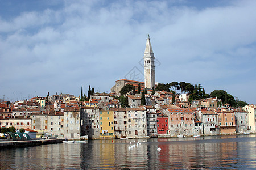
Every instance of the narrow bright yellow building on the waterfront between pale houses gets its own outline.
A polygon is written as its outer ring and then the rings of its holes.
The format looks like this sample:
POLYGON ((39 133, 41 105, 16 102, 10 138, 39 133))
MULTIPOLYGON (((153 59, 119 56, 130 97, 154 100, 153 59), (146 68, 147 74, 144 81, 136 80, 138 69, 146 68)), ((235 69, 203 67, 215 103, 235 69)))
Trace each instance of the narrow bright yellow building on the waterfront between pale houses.
POLYGON ((114 138, 114 111, 100 111, 100 138, 114 138))

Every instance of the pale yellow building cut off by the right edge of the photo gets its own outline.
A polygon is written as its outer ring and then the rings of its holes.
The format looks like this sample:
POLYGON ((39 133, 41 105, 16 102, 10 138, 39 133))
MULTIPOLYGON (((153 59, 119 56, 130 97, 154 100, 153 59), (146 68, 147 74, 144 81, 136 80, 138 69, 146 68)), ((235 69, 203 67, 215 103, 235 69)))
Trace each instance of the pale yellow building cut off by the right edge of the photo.
POLYGON ((248 112, 249 116, 249 129, 256 132, 256 105, 250 104, 243 107, 248 112))

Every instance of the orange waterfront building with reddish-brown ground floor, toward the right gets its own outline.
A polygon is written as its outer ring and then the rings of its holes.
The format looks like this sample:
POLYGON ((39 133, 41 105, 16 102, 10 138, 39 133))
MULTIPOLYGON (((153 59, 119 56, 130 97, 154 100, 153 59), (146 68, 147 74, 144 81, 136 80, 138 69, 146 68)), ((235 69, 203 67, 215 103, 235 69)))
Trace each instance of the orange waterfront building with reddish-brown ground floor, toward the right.
POLYGON ((236 117, 233 111, 223 111, 218 109, 218 118, 220 126, 220 134, 235 134, 236 133, 236 117))

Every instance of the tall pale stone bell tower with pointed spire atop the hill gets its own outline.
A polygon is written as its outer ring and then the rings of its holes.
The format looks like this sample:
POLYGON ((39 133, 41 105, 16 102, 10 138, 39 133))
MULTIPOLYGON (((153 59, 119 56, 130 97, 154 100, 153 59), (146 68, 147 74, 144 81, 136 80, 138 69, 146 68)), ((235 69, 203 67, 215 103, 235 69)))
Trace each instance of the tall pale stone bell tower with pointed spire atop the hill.
POLYGON ((146 49, 144 52, 144 77, 145 87, 148 89, 155 88, 155 57, 150 44, 150 37, 147 34, 146 49))

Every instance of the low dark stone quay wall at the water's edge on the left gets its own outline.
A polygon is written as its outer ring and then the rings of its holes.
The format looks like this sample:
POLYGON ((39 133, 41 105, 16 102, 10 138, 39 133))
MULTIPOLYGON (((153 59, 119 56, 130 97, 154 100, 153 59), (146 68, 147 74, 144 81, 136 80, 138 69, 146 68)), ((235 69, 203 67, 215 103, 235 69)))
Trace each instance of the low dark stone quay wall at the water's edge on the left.
POLYGON ((13 147, 27 147, 27 146, 39 146, 47 144, 63 143, 61 139, 45 139, 45 140, 30 140, 30 141, 1 141, 1 148, 13 148, 13 147))

